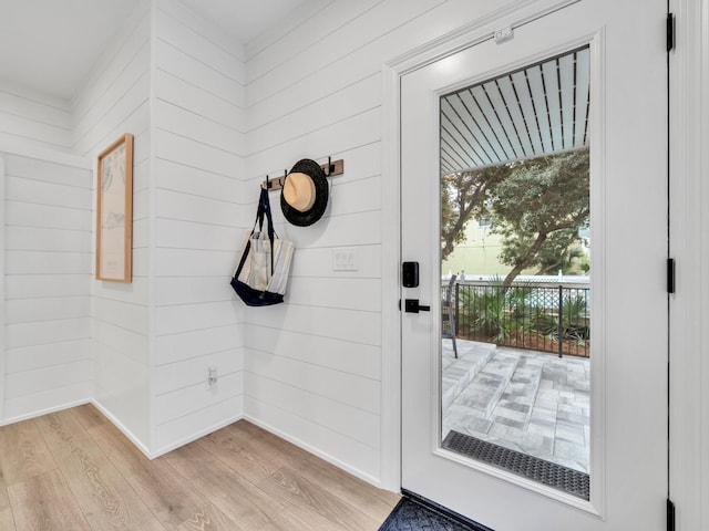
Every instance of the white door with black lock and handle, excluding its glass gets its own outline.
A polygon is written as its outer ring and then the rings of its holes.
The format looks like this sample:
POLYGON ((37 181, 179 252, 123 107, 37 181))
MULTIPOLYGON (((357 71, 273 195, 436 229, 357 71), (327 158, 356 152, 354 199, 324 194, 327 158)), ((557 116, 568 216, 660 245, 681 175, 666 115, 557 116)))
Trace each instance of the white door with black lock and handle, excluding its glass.
MULTIPOLYGON (((419 285, 402 288, 401 298, 430 306, 407 312, 402 302, 402 488, 495 531, 665 528, 665 19, 660 0, 582 0, 514 28, 512 39, 485 40, 401 77, 401 259, 420 267, 419 285), (590 87, 587 496, 452 451, 442 445, 441 427, 442 97, 577 50, 587 54, 585 84, 590 87)), ((500 28, 514 23, 511 17, 500 28)), ((573 71, 583 90, 583 72, 573 71)), ((559 85, 563 75, 559 70, 559 85)), ((569 110, 551 82, 547 77, 547 97, 556 97, 558 105, 536 111, 554 128, 552 113, 582 110, 569 110)), ((487 97, 487 112, 502 113, 494 95, 487 97)), ((517 91, 516 97, 525 96, 517 91)))

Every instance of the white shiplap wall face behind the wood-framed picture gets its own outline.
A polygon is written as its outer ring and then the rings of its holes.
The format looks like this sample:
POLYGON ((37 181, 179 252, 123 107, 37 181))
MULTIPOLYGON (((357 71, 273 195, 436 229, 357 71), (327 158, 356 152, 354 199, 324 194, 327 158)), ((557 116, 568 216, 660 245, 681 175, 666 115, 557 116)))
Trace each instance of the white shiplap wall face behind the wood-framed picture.
MULTIPOLYGON (((91 281, 96 404, 150 451, 150 209, 152 7, 136 7, 73 98, 74 153, 96 155, 132 133, 133 281, 91 281)), ((95 171, 95 169, 94 169, 95 171)), ((95 249, 95 178, 91 249, 95 249)), ((92 272, 95 264, 91 263, 92 272)))

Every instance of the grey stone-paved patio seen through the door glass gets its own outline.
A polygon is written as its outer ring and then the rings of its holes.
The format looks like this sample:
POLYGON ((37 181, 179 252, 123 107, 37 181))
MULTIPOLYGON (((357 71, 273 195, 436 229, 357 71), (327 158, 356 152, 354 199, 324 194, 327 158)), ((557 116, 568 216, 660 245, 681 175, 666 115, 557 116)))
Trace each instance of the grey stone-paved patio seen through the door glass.
POLYGON ((588 473, 589 360, 443 340, 443 438, 450 430, 588 473))

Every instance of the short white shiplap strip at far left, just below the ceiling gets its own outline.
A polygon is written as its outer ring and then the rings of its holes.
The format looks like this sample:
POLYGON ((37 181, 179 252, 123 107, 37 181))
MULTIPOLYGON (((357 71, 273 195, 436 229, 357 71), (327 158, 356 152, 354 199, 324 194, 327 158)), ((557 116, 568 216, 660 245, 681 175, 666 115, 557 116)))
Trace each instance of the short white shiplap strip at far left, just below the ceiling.
POLYGON ((70 103, 0 82, 0 143, 69 152, 70 103))

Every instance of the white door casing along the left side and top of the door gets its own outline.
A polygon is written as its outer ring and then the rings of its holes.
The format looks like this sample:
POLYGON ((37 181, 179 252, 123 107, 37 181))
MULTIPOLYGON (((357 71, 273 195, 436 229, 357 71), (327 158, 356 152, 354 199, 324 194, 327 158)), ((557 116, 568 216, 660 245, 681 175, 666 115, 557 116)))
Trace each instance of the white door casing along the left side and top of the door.
POLYGON ((401 79, 439 59, 491 40, 580 0, 520 0, 387 61, 382 67, 382 415, 381 487, 401 489, 401 79))

